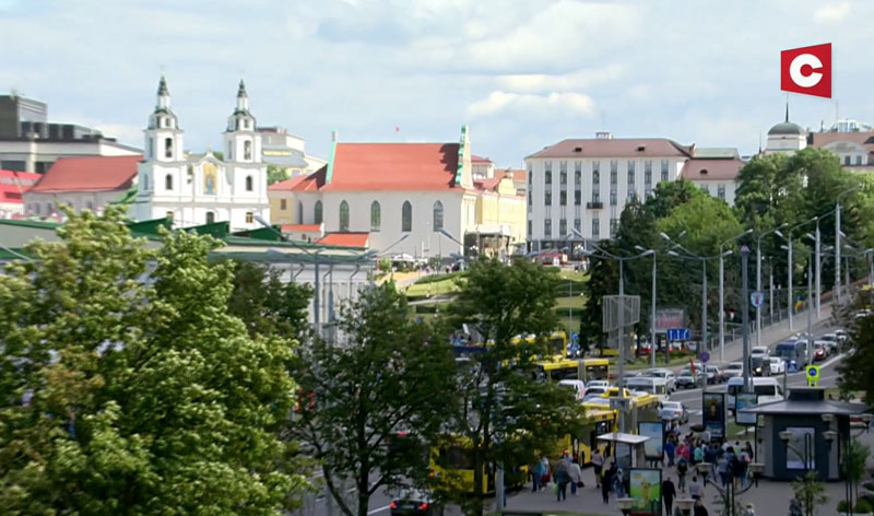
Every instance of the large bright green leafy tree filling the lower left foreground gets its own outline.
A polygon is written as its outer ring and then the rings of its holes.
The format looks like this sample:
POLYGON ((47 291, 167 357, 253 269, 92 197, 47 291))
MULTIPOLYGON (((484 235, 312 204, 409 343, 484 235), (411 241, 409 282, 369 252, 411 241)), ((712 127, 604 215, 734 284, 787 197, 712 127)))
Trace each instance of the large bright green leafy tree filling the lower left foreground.
POLYGON ((68 211, 60 242, 0 275, 0 504, 10 514, 245 514, 305 485, 277 438, 294 342, 249 338, 226 310, 210 237, 149 250, 68 211))

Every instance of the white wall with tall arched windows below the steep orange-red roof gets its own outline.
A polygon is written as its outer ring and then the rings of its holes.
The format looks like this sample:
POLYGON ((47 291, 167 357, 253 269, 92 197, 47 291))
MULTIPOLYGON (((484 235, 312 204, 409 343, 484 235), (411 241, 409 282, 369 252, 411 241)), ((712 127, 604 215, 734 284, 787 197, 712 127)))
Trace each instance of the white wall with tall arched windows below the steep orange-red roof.
POLYGON ((464 190, 446 191, 321 191, 295 192, 303 207, 300 224, 315 224, 315 206, 322 202, 322 221, 326 233, 340 231, 340 203, 345 200, 350 208, 350 232, 370 234, 370 248, 381 251, 398 242, 404 233, 403 242, 388 249, 389 254, 408 254, 414 257, 448 256, 462 254, 461 246, 433 227, 434 206, 440 201, 444 207, 444 230, 463 242, 464 234, 473 231, 476 220, 476 196, 464 190), (370 206, 380 206, 378 231, 370 226, 370 206), (403 232, 402 208, 410 201, 413 210, 412 231, 403 232))

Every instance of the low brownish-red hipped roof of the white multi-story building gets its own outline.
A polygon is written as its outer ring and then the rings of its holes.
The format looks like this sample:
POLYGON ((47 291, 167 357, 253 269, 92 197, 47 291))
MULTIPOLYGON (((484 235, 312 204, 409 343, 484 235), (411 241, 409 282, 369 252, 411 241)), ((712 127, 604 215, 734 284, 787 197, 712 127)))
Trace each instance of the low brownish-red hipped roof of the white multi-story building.
POLYGON ((614 138, 563 140, 528 157, 682 157, 689 151, 665 138, 614 138))

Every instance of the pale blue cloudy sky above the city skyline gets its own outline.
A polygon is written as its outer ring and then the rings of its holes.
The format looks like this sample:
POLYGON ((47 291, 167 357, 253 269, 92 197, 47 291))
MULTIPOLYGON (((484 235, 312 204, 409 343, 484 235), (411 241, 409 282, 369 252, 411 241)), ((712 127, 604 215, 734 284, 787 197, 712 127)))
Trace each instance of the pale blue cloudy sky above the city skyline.
POLYGON ((142 146, 163 73, 188 150, 221 149, 246 81, 260 126, 458 141, 498 166, 566 138, 755 152, 782 121, 874 122, 871 1, 0 0, 0 94, 142 146), (780 50, 832 43, 835 99, 780 92, 780 50), (395 130, 400 129, 400 130, 395 130))

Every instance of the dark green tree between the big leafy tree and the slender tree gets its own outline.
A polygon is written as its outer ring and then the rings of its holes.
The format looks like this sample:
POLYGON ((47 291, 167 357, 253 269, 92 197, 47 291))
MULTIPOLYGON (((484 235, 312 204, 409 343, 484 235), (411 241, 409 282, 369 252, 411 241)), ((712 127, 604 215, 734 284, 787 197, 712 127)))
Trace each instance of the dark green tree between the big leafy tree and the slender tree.
POLYGON ((295 368, 303 397, 288 434, 322 468, 346 516, 366 516, 370 496, 403 480, 427 480, 428 452, 392 446, 400 433, 432 442, 452 412, 451 350, 439 327, 411 320, 393 282, 369 288, 341 312, 339 341, 315 339, 295 368), (356 503, 344 496, 352 480, 356 503))

